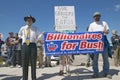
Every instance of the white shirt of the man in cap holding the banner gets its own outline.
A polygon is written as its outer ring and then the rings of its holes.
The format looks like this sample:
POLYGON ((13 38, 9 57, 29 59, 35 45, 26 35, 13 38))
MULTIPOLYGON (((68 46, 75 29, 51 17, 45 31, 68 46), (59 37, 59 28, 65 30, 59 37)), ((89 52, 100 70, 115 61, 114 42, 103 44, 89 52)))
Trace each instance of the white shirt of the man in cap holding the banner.
POLYGON ((95 32, 95 31, 104 31, 109 30, 108 24, 105 21, 98 21, 98 22, 92 22, 89 26, 88 31, 89 32, 95 32))

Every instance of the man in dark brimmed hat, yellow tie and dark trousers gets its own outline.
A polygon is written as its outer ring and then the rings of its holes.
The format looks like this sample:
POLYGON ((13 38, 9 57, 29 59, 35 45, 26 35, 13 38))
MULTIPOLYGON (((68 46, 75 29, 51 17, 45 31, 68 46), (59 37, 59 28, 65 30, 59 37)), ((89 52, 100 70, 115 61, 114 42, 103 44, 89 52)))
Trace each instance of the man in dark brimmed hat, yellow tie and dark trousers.
POLYGON ((28 66, 31 63, 31 77, 36 80, 36 59, 37 59, 37 46, 36 42, 39 36, 39 30, 32 24, 35 23, 35 18, 32 16, 24 17, 26 22, 19 31, 19 37, 22 39, 22 67, 23 67, 23 80, 28 80, 28 66))

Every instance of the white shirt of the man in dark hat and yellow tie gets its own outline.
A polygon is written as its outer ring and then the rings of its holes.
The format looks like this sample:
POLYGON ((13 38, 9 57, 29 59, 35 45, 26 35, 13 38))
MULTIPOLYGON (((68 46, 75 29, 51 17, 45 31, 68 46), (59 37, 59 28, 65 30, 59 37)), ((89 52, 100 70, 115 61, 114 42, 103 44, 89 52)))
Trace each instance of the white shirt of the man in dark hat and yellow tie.
MULTIPOLYGON (((25 43, 25 41, 26 41, 27 28, 28 28, 28 25, 21 27, 21 29, 18 33, 19 37, 22 38, 23 43, 25 43)), ((40 34, 40 32, 39 32, 38 28, 31 26, 30 27, 30 42, 36 43, 39 34, 40 34)))

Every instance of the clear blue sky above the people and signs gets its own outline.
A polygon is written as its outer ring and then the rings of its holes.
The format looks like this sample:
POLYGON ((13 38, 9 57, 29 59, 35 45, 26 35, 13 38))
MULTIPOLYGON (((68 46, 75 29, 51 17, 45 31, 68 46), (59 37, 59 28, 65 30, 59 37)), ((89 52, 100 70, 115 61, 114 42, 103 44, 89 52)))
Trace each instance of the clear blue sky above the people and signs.
POLYGON ((0 33, 3 40, 9 32, 18 32, 25 25, 24 17, 32 15, 36 18, 33 24, 40 32, 54 32, 54 6, 75 6, 77 32, 85 32, 93 22, 93 13, 99 11, 101 20, 108 23, 120 34, 120 0, 0 0, 0 33))

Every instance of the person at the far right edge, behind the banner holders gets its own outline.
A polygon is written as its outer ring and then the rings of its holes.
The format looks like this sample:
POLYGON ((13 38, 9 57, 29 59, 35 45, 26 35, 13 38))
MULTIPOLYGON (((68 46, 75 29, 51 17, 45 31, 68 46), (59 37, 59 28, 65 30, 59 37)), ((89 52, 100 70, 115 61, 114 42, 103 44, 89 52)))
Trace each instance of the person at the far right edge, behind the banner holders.
POLYGON ((114 64, 120 66, 120 36, 118 36, 116 30, 112 30, 111 42, 113 45, 114 64))

